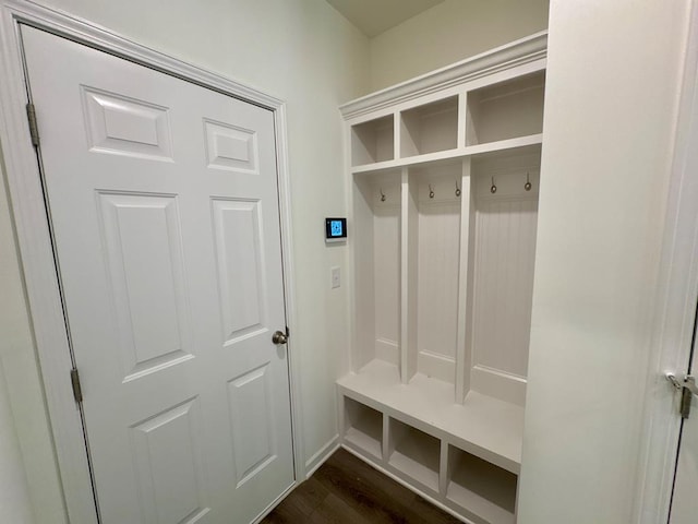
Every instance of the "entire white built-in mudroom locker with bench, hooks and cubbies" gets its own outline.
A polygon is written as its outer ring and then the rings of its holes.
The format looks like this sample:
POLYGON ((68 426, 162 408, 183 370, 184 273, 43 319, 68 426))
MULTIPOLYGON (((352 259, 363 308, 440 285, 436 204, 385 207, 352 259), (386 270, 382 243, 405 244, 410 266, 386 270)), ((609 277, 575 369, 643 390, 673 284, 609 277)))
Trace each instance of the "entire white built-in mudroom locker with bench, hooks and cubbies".
POLYGON ((473 524, 516 522, 545 40, 341 107, 353 231, 341 443, 473 524))

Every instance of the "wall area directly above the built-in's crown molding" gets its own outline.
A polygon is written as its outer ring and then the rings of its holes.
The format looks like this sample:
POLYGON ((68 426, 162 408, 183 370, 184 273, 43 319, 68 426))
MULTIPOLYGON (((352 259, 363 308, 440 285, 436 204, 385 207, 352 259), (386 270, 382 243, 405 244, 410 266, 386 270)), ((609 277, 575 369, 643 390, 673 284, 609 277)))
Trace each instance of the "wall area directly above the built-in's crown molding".
POLYGON ((371 90, 547 27, 549 0, 446 0, 371 39, 371 90))

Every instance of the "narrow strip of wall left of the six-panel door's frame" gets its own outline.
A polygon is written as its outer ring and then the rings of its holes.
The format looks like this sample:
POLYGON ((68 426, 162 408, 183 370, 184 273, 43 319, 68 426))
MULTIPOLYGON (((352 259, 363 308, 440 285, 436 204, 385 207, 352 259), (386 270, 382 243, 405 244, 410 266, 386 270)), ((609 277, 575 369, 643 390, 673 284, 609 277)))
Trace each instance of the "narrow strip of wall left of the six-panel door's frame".
MULTIPOLYGON (((0 492, 7 496, 2 497, 0 514, 5 514, 7 505, 12 501, 28 503, 27 495, 23 495, 28 485, 36 522, 63 522, 62 491, 4 180, 0 180, 0 492), (17 469, 22 466, 24 471, 17 469)), ((28 513, 25 519, 8 522, 31 522, 28 513)))

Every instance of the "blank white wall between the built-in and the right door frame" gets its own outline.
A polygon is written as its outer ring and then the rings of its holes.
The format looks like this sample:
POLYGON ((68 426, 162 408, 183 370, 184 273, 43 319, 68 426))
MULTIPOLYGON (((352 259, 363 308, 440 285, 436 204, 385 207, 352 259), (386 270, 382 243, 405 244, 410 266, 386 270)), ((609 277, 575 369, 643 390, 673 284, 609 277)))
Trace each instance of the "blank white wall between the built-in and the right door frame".
POLYGON ((520 524, 631 522, 689 3, 551 2, 520 524))

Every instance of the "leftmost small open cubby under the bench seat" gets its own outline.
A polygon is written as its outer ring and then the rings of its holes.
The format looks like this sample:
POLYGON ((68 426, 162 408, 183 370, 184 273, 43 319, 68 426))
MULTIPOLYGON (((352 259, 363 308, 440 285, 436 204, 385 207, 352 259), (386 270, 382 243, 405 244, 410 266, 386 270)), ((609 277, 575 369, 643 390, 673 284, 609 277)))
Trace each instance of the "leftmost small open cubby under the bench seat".
POLYGON ((382 460, 383 414, 348 396, 344 397, 344 407, 345 442, 359 452, 382 460))

